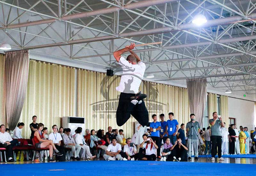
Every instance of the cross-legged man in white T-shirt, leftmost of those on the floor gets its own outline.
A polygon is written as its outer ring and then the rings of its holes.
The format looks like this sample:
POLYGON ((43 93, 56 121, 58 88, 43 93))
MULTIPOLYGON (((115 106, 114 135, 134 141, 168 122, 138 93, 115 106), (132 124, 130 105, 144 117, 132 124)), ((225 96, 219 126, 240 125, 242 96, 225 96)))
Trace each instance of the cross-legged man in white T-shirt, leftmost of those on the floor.
POLYGON ((121 144, 116 142, 116 138, 113 138, 112 143, 108 145, 107 153, 103 155, 103 158, 107 161, 111 160, 123 160, 122 156, 119 154, 122 151, 121 144))

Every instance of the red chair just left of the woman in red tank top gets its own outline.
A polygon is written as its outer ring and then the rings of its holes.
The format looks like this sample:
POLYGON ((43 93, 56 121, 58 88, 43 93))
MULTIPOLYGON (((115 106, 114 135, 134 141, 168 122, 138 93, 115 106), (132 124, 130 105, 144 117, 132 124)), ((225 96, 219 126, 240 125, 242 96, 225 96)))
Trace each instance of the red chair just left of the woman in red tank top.
POLYGON ((25 151, 26 152, 26 158, 27 158, 27 161, 29 160, 28 159, 28 152, 29 150, 34 150, 34 146, 29 146, 29 142, 30 142, 30 139, 17 139, 18 142, 20 143, 19 146, 14 146, 12 148, 13 150, 13 157, 14 157, 14 161, 16 161, 16 153, 18 153, 18 151, 20 151, 20 155, 19 155, 19 161, 20 161, 20 156, 21 156, 21 152, 22 151, 25 151))

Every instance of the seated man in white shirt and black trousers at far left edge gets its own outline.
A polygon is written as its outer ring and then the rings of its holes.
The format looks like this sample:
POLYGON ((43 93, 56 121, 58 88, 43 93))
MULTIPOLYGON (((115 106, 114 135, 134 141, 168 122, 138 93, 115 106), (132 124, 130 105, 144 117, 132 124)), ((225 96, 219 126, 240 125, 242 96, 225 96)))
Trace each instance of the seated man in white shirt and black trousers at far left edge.
POLYGON ((12 140, 9 132, 5 132, 5 126, 0 125, 0 148, 6 148, 8 162, 13 162, 12 148, 16 146, 18 140, 12 140))

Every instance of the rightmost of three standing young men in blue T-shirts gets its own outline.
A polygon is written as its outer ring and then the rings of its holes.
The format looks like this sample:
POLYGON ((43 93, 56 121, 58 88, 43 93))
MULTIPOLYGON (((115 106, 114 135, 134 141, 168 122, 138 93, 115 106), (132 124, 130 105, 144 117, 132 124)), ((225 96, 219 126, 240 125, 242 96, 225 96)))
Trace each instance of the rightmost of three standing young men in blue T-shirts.
POLYGON ((172 145, 174 145, 177 139, 176 134, 178 133, 179 123, 177 120, 173 119, 174 114, 172 112, 170 112, 168 115, 170 120, 167 120, 167 125, 165 128, 168 138, 170 138, 172 145))

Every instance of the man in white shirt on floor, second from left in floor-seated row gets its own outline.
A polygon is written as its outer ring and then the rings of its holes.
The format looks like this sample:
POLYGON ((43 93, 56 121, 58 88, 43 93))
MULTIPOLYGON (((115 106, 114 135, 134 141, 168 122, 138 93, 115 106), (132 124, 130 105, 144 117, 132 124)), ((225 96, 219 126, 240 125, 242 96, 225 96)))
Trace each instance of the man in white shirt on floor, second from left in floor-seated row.
MULTIPOLYGON (((119 130, 119 133, 120 133, 120 130, 119 130)), ((127 160, 134 161, 138 159, 139 153, 137 153, 136 146, 133 143, 131 143, 131 141, 132 141, 131 138, 127 138, 126 140, 127 144, 124 146, 124 152, 120 152, 124 161, 127 161, 127 160)))

